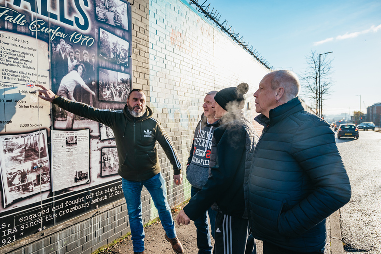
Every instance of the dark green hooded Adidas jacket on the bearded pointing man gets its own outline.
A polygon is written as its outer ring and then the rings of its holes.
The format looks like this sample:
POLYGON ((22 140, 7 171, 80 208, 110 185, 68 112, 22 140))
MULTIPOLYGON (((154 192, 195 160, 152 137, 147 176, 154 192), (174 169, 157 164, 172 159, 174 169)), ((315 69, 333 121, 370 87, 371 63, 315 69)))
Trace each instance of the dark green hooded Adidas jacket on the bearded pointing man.
POLYGON ((118 174, 124 179, 144 181, 160 172, 156 141, 170 160, 174 174, 181 174, 177 152, 160 122, 152 117, 148 106, 142 117, 135 118, 128 112, 127 105, 123 110, 97 109, 61 96, 56 96, 52 103, 113 130, 119 158, 118 174))

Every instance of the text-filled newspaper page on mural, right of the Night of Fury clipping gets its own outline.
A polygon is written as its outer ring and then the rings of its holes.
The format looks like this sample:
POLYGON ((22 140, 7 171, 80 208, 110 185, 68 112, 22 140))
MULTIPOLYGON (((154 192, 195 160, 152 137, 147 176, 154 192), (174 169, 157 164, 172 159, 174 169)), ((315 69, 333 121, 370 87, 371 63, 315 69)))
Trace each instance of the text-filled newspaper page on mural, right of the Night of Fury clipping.
POLYGON ((52 130, 53 191, 90 183, 89 130, 52 130))

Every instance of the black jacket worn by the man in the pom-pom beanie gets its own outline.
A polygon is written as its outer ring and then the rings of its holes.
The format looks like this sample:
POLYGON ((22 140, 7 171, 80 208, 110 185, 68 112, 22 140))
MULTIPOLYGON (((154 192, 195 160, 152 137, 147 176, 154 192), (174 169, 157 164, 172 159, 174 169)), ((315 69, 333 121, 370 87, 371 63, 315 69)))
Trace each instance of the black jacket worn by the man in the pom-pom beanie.
POLYGON ((223 214, 247 218, 244 179, 248 179, 257 140, 254 128, 242 112, 227 113, 220 119, 212 138, 211 176, 184 207, 191 220, 214 202, 223 214))

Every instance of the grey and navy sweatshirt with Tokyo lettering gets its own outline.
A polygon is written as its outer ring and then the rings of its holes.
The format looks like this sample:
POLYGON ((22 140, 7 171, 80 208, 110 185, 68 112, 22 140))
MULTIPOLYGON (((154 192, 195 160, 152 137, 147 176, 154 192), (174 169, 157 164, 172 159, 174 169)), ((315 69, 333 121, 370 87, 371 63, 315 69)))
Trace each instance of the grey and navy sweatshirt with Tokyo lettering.
POLYGON ((209 160, 212 149, 213 132, 219 126, 219 121, 208 123, 202 113, 194 131, 191 152, 187 162, 187 180, 192 186, 202 189, 209 177, 209 160))

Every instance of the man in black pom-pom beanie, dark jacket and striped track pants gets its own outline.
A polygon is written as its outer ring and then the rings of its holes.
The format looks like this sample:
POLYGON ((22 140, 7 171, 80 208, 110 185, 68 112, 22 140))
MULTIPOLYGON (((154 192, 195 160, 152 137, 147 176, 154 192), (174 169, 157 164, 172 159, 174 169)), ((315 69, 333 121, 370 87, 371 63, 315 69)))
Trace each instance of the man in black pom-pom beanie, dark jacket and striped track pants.
POLYGON ((176 218, 179 225, 188 225, 216 202, 216 254, 256 253, 254 241, 247 246, 250 227, 245 193, 248 186, 244 185, 258 141, 258 135, 242 112, 248 89, 248 84, 241 83, 238 87, 222 89, 214 96, 214 117, 220 119, 220 126, 212 138, 210 176, 176 218))

